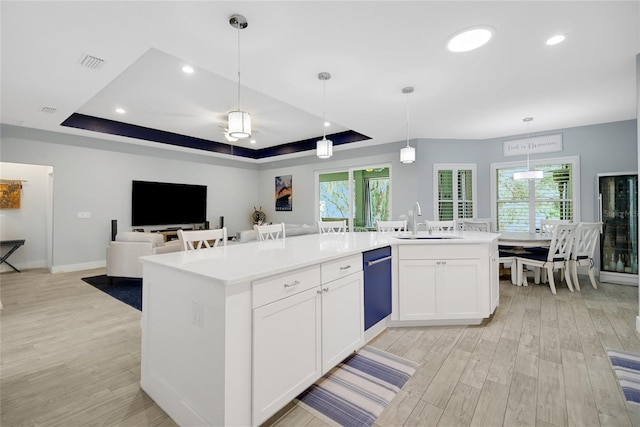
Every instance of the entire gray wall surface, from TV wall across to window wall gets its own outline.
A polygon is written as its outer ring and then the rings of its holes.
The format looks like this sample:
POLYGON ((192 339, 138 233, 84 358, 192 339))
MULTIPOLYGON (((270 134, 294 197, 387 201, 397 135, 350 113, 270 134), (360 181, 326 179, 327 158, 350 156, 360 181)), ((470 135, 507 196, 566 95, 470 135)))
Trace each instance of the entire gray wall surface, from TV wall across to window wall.
MULTIPOLYGON (((562 129, 561 153, 536 155, 561 157, 579 155, 581 161, 582 220, 596 218, 595 176, 599 172, 635 171, 638 168, 637 124, 635 120, 562 129)), ((543 133, 532 132, 531 136, 543 133)), ((393 180, 392 215, 407 213, 419 201, 425 218, 433 212, 433 164, 476 163, 478 171, 478 217, 491 212, 490 164, 513 161, 502 156, 502 141, 525 135, 490 140, 411 141, 417 160, 399 162, 405 142, 334 151, 329 160, 313 155, 248 164, 194 153, 155 149, 105 141, 97 138, 2 126, 0 161, 52 166, 53 270, 76 270, 104 265, 110 236, 110 220, 119 229, 130 229, 131 180, 157 180, 209 186, 209 220, 218 225, 225 217, 230 233, 251 227, 253 207, 262 206, 269 221, 311 224, 315 220, 316 171, 391 165, 393 180), (274 178, 293 176, 293 211, 275 212, 274 178), (90 219, 78 219, 77 212, 91 212, 90 219)), ((524 161, 524 159, 523 159, 524 161)), ((158 208, 170 201, 158 201, 158 208)), ((46 239, 43 236, 43 245, 46 239)))

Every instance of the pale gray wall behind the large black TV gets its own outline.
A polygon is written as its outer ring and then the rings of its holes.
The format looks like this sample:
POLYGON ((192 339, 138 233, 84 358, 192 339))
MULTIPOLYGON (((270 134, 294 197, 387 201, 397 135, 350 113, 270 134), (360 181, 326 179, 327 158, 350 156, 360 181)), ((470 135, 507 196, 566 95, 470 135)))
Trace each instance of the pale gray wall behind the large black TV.
MULTIPOLYGON (((1 148, 2 161, 46 164, 55 170, 54 272, 105 265, 111 220, 118 220, 119 231, 131 229, 132 180, 207 185, 208 219, 217 226, 224 216, 230 233, 251 227, 249 215, 259 200, 257 170, 212 164, 218 160, 203 163, 167 150, 158 150, 164 157, 157 157, 149 148, 137 154, 140 147, 11 126, 3 126, 1 148), (90 212, 91 218, 79 219, 78 212, 90 212)), ((166 203, 171 201, 158 200, 157 208, 166 203)))

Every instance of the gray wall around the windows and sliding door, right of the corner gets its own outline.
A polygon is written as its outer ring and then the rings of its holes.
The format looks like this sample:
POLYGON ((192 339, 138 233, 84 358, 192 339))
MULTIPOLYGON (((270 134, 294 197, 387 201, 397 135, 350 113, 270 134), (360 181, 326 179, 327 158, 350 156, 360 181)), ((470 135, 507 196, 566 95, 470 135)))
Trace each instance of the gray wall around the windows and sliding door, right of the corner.
MULTIPOLYGON (((637 130, 636 120, 604 123, 561 129, 552 132, 531 132, 530 136, 562 133, 563 151, 535 155, 535 159, 548 157, 580 156, 580 209, 583 221, 597 219, 596 174, 603 172, 636 171, 637 130)), ((491 216, 491 163, 525 161, 525 158, 505 158, 502 143, 505 140, 523 138, 509 135, 488 140, 419 139, 411 141, 416 147, 416 162, 403 165, 399 162, 404 142, 334 152, 329 160, 304 157, 272 162, 262 166, 260 172, 260 200, 269 220, 274 222, 310 223, 314 220, 314 174, 317 170, 346 168, 373 163, 392 164, 392 214, 394 218, 407 213, 416 201, 422 206, 423 217, 433 218, 433 165, 435 163, 477 164, 477 217, 491 216), (305 164, 302 164, 306 162, 305 164), (274 212, 273 181, 277 175, 293 175, 293 212, 274 212), (304 194, 300 194, 304 193, 304 194)), ((534 156, 532 156, 534 158, 534 156)))

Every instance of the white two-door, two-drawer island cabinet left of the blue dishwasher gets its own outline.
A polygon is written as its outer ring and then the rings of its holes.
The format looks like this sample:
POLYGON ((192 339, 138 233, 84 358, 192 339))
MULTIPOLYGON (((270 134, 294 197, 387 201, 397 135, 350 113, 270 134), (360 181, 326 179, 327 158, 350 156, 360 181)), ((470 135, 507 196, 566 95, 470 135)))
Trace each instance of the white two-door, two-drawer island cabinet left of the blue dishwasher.
POLYGON ((362 346, 362 256, 256 281, 253 301, 258 425, 362 346))

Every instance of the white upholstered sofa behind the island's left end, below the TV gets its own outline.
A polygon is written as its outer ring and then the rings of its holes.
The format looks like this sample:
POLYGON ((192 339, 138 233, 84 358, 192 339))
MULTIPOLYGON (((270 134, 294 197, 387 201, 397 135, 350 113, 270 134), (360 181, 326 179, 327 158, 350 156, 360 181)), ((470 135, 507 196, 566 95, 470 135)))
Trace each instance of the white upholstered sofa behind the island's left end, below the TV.
POLYGON ((120 232, 107 246, 107 276, 142 278, 141 256, 178 252, 182 248, 180 240, 165 243, 161 233, 120 232))

